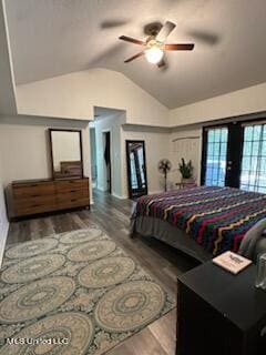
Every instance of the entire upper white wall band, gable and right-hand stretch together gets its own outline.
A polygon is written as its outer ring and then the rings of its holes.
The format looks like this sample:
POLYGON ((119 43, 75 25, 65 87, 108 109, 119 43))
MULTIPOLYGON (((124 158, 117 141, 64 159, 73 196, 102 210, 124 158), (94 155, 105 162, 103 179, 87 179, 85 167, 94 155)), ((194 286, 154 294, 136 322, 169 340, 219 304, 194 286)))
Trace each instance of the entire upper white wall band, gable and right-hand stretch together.
POLYGON ((92 119, 93 106, 126 111, 126 123, 181 126, 266 110, 266 83, 168 110, 123 74, 90 69, 17 87, 22 114, 92 119))

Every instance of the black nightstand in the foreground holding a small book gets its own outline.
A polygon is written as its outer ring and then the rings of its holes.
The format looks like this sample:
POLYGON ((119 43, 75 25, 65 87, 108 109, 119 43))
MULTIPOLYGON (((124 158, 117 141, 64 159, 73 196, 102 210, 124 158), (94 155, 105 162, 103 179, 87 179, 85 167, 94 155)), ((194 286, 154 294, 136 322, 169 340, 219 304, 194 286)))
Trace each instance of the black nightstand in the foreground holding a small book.
POLYGON ((266 292, 256 267, 233 275, 207 262, 178 277, 177 355, 265 355, 266 292))

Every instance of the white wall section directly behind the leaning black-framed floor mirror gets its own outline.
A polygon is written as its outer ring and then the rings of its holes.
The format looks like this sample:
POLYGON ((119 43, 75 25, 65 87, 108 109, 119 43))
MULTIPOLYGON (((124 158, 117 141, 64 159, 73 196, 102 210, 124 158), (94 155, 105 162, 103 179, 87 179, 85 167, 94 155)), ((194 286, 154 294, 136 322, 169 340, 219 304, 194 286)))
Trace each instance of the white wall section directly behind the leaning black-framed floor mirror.
POLYGON ((127 174, 126 174, 126 140, 143 140, 145 141, 146 152, 146 174, 149 193, 156 193, 163 191, 163 176, 157 171, 157 163, 163 158, 170 156, 170 134, 160 130, 144 130, 143 128, 123 126, 122 131, 122 181, 123 181, 123 196, 127 197, 127 174))

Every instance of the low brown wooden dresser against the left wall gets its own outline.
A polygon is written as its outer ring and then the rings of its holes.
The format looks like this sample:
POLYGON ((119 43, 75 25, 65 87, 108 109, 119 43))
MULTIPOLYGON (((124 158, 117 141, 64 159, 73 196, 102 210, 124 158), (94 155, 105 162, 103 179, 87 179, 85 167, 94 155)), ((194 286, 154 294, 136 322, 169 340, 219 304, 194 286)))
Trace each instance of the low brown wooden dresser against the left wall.
POLYGON ((89 178, 12 182, 7 191, 9 219, 90 207, 89 178))

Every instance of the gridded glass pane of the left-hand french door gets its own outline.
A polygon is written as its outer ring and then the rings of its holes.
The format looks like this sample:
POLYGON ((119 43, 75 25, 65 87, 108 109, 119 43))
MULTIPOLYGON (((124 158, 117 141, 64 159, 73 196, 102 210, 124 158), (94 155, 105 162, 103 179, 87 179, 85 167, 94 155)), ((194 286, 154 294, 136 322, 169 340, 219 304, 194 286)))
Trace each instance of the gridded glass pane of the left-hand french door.
POLYGON ((205 185, 224 186, 227 165, 228 129, 207 130, 205 185))

